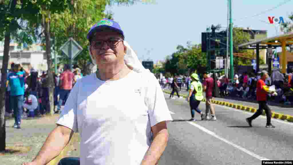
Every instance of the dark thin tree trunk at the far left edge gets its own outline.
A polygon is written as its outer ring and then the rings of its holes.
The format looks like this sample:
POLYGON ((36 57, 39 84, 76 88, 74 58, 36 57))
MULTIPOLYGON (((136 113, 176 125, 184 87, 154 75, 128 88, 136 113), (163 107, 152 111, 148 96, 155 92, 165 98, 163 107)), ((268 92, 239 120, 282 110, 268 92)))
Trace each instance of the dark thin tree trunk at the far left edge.
POLYGON ((5 121, 5 91, 6 91, 6 77, 7 77, 7 66, 8 66, 8 54, 9 54, 9 43, 10 43, 10 31, 7 30, 5 33, 4 41, 4 55, 2 61, 2 76, 1 76, 1 89, 0 89, 0 151, 4 151, 6 147, 6 121, 5 121))

